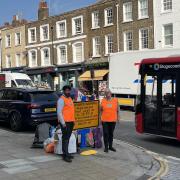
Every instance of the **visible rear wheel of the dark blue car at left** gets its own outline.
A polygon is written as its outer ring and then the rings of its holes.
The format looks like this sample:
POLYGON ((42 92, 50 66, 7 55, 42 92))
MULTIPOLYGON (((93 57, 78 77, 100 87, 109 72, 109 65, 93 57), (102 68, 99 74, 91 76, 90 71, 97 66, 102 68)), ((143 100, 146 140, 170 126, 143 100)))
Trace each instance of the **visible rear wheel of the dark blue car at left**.
POLYGON ((13 112, 10 117, 10 126, 13 131, 20 131, 22 128, 21 114, 18 112, 13 112))

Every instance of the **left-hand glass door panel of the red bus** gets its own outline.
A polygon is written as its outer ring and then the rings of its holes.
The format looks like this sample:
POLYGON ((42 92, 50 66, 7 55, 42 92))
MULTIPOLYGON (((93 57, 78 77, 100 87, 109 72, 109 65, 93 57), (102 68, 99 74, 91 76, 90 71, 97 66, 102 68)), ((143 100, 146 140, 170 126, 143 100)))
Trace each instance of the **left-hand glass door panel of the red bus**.
POLYGON ((144 76, 144 95, 143 102, 143 117, 144 117, 144 130, 147 133, 157 133, 158 129, 158 76, 156 74, 146 74, 144 76))

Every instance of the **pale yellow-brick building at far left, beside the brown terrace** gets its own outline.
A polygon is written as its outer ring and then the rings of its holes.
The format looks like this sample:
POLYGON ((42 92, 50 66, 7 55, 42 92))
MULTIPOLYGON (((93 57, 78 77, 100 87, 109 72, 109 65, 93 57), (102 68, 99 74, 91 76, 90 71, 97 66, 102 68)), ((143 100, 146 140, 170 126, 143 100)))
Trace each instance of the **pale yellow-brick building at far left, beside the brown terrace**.
POLYGON ((20 71, 23 67, 27 66, 25 24, 26 20, 20 20, 15 15, 13 16, 12 23, 5 23, 1 29, 2 71, 20 71))

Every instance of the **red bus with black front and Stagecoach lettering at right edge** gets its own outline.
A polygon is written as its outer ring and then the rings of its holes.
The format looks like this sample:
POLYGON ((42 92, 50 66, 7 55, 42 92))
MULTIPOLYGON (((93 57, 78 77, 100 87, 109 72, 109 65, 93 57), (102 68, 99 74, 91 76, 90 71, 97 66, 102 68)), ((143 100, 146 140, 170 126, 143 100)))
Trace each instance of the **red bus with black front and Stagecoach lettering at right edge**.
POLYGON ((180 140, 180 57, 144 59, 139 74, 136 131, 180 140))

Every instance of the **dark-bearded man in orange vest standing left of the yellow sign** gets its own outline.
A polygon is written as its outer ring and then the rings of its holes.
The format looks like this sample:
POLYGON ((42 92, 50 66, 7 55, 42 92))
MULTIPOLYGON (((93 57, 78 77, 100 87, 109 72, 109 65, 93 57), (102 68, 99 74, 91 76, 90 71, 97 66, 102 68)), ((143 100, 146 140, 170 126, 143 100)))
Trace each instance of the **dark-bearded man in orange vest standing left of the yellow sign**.
POLYGON ((73 156, 68 152, 69 140, 74 128, 74 103, 71 98, 71 87, 63 87, 63 95, 57 102, 58 124, 62 130, 62 151, 63 160, 72 162, 73 156))

